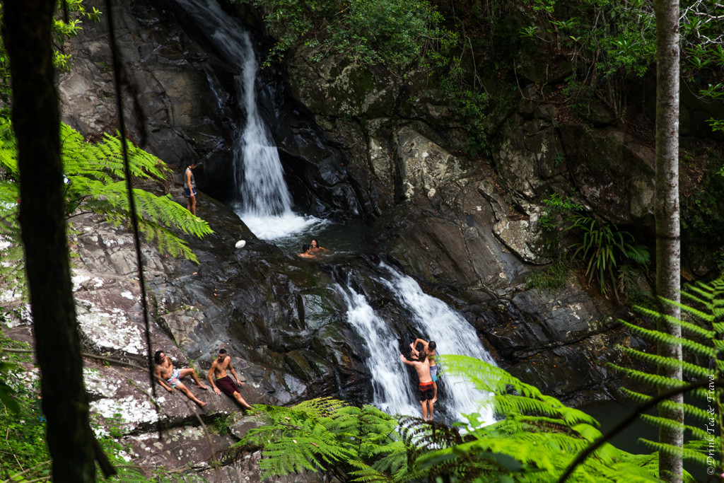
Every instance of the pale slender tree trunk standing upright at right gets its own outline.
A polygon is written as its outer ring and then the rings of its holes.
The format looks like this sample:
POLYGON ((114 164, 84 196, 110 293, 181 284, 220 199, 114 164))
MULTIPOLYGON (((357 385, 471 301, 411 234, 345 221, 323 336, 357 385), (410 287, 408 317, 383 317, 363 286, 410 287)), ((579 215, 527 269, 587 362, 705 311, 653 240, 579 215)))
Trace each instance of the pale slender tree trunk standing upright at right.
MULTIPOLYGON (((681 248, 678 203, 678 116, 679 116, 679 2, 654 0, 656 12, 656 293, 671 301, 680 301, 681 248)), ((660 303, 662 314, 678 319, 681 310, 660 303)), ((658 322, 657 328, 681 337, 681 327, 658 322)), ((658 345, 658 354, 681 361, 681 344, 658 345)), ((681 380, 681 368, 659 368, 659 374, 681 380)), ((683 403, 683 395, 672 398, 683 403)), ((659 415, 683 424, 683 408, 659 409, 659 415)), ((683 427, 659 429, 659 442, 681 448, 683 427)), ((667 482, 681 482, 681 450, 659 455, 659 475, 667 482)))

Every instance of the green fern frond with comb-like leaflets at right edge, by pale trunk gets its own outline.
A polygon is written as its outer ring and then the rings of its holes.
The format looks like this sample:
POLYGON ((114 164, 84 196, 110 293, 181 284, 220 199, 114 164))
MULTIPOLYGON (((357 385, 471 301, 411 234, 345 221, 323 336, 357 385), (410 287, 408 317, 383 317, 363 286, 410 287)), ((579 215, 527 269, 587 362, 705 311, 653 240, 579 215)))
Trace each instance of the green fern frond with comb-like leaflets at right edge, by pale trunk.
MULTIPOLYGON (((724 337, 724 278, 720 277, 709 283, 697 282, 690 285, 681 292, 681 298, 686 303, 676 303, 665 299, 660 299, 660 301, 681 308, 681 319, 665 316, 665 320, 669 324, 680 326, 682 337, 674 337, 657 329, 647 329, 629 322, 623 322, 623 324, 652 343, 681 343, 684 353, 683 361, 633 348, 623 347, 621 349, 647 366, 681 367, 684 381, 709 382, 706 388, 693 392, 701 403, 681 405, 685 415, 683 428, 689 434, 689 442, 683 450, 683 458, 700 466, 712 469, 717 467, 717 474, 719 474, 722 467, 720 451, 724 448, 722 438, 724 388, 715 387, 714 380, 721 379, 724 374, 724 361, 720 358, 723 346, 721 341, 724 337), (713 458, 714 461, 707 461, 708 457, 713 458)), ((647 319, 662 318, 659 311, 651 308, 637 307, 636 311, 647 319)), ((668 390, 686 384, 677 379, 670 379, 640 369, 613 364, 611 366, 654 389, 668 390)), ((641 403, 652 399, 647 394, 633 390, 626 390, 626 393, 633 400, 641 403)), ((671 407, 676 403, 667 400, 661 404, 671 407)), ((657 427, 672 427, 678 424, 659 416, 642 416, 642 419, 657 427)), ((650 448, 658 451, 675 450, 658 442, 644 441, 650 448)))

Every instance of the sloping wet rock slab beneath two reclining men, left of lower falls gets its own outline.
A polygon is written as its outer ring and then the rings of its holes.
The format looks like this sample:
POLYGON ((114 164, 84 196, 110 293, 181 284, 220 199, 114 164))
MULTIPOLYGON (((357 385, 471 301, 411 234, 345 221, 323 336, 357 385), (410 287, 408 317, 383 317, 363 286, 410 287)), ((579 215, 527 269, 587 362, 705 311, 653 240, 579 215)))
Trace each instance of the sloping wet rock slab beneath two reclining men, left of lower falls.
MULTIPOLYGON (((256 240, 225 206, 199 198, 198 214, 215 230, 203 240, 188 240, 200 264, 172 259, 143 244, 151 352, 163 350, 175 367, 194 368, 209 386, 211 361, 220 347, 227 348, 243 382, 240 393, 250 404, 339 395, 340 382, 350 398, 364 399, 369 374, 350 347, 356 336, 342 324, 344 306, 333 290, 317 288, 329 285, 329 275, 256 240), (236 249, 240 239, 247 243, 236 249)), ((177 201, 183 200, 178 196, 177 201)), ((101 358, 88 356, 85 364, 91 410, 99 420, 108 419, 106 424, 119 424, 132 442, 136 463, 167 469, 208 464, 211 450, 196 415, 209 422, 240 411, 240 406, 210 387, 196 387, 192 377, 182 382, 206 406, 160 385, 153 388, 159 408, 153 405, 144 369, 146 321, 132 238, 95 215, 75 217, 74 222, 80 337, 83 350, 101 358), (102 364, 102 358, 112 361, 102 364), (114 423, 110 420, 116 414, 114 423), (162 442, 154 441, 159 421, 167 431, 162 442)), ((7 303, 11 307, 20 301, 7 303)), ((26 314, 14 316, 2 329, 9 337, 28 340, 32 325, 26 314)), ((225 436, 211 440, 214 451, 232 442, 225 436)))

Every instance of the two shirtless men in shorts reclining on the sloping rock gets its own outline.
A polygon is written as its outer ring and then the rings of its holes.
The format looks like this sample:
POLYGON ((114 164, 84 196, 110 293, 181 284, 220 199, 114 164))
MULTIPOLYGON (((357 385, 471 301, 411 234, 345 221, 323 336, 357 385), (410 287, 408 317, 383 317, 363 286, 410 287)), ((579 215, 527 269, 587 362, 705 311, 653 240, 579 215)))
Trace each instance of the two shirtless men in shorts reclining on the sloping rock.
MULTIPOLYGON (((163 350, 156 350, 153 359, 156 361, 156 379, 161 386, 168 392, 173 392, 174 389, 180 390, 186 397, 198 404, 198 406, 206 406, 206 402, 193 395, 193 392, 181 382, 181 379, 190 376, 196 383, 196 387, 203 390, 209 389, 206 385, 201 384, 201 380, 198 379, 198 375, 194 369, 190 367, 183 369, 174 367, 171 359, 163 350)), ((251 409, 251 406, 241 397, 237 385, 243 386, 244 383, 237 377, 234 366, 231 364, 231 356, 229 356, 226 349, 219 349, 219 355, 214 359, 214 362, 211 363, 211 369, 209 369, 209 373, 206 374, 206 378, 211 382, 211 387, 216 394, 221 395, 221 393, 224 392, 224 394, 234 398, 243 408, 251 409), (236 382, 227 374, 227 371, 234 376, 236 382)))

